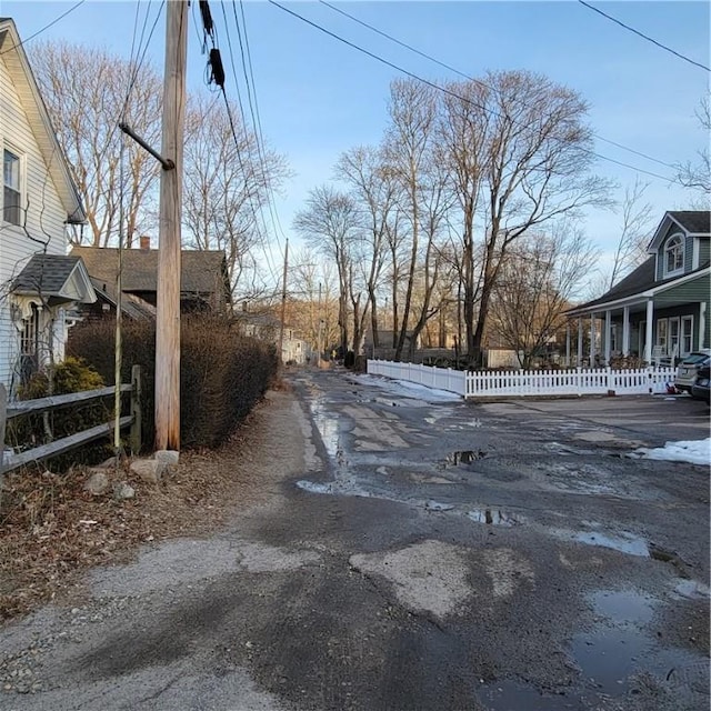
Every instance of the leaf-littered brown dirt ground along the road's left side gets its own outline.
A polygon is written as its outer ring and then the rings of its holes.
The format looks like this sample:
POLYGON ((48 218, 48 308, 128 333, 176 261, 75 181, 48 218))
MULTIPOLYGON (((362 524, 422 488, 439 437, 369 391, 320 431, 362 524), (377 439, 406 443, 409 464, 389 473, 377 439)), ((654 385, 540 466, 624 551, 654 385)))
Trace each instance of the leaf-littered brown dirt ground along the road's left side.
POLYGON ((264 497, 263 458, 257 458, 268 427, 270 393, 234 435, 214 451, 183 452, 158 484, 133 474, 127 461, 106 469, 110 482, 136 491, 117 500, 84 490, 86 467, 64 474, 43 467, 6 477, 0 491, 0 621, 51 600, 81 594, 81 571, 129 561, 149 541, 200 537, 219 528, 236 509, 264 497))

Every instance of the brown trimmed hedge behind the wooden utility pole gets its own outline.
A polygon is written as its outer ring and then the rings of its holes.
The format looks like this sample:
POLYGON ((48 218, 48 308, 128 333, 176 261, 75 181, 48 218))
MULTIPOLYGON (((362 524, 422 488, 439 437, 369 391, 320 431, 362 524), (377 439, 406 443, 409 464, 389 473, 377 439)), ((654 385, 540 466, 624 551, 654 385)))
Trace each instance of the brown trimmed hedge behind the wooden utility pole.
MULTIPOLYGON (((124 321, 121 381, 141 367, 142 445, 153 447, 156 323, 124 321)), ((116 323, 84 321, 69 332, 67 353, 83 358, 113 383, 116 323)), ((224 442, 263 397, 277 374, 273 346, 238 333, 237 322, 211 314, 181 317, 181 448, 224 442)))

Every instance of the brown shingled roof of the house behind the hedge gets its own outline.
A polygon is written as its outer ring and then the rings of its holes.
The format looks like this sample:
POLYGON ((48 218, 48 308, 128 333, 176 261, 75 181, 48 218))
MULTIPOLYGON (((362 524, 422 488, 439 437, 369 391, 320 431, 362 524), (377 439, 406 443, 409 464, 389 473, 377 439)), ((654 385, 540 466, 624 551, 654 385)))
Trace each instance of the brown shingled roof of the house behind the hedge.
MULTIPOLYGON (((87 271, 100 284, 116 284, 119 273, 119 250, 111 247, 73 247, 71 254, 81 257, 87 271)), ((123 291, 158 290, 157 249, 124 249, 121 253, 123 291)), ((227 263, 222 250, 182 250, 180 253, 180 291, 182 293, 218 294, 226 289, 227 263)))

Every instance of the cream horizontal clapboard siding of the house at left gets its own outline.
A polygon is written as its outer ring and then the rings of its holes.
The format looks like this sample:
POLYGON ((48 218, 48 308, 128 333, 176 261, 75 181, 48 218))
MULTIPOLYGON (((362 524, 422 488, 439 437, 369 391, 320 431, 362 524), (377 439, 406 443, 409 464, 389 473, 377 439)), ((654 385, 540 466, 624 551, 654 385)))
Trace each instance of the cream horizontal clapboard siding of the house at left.
MULTIPOLYGON (((67 214, 23 109, 28 106, 27 101, 33 101, 33 98, 18 93, 8 66, 0 54, 0 148, 7 147, 21 158, 22 202, 23 207, 28 206, 23 218, 27 231, 10 223, 1 224, 0 288, 6 287, 22 270, 33 253, 67 253, 67 214)), ((52 156, 52 160, 63 160, 58 151, 52 156)), ((0 220, 1 214, 0 212, 0 220)), ((19 333, 10 319, 7 299, 0 300, 0 382, 9 385, 19 352, 19 333)))

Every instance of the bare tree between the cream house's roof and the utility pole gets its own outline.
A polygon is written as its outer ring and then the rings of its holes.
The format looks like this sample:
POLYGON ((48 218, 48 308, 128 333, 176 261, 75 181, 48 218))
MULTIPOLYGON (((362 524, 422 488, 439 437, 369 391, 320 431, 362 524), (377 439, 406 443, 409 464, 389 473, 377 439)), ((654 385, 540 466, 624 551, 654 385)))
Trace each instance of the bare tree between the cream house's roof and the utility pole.
MULTIPOLYGON (((117 240, 123 194, 130 247, 138 233, 152 227, 150 202, 159 166, 140 146, 124 140, 117 124, 123 120, 149 143, 159 144, 158 73, 147 62, 138 67, 104 50, 69 42, 38 42, 28 52, 87 211, 88 241, 106 247, 117 240)), ((82 234, 74 239, 82 241, 82 234)))

